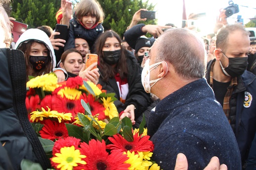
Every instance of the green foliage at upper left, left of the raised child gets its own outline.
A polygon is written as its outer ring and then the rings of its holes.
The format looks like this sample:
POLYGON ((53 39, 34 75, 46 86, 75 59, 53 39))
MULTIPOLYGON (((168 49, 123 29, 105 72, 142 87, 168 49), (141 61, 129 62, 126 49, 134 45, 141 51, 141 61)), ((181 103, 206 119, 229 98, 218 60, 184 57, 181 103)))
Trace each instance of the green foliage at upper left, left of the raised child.
POLYGON ((28 28, 55 28, 55 15, 60 7, 61 0, 13 0, 11 17, 28 24, 28 28))

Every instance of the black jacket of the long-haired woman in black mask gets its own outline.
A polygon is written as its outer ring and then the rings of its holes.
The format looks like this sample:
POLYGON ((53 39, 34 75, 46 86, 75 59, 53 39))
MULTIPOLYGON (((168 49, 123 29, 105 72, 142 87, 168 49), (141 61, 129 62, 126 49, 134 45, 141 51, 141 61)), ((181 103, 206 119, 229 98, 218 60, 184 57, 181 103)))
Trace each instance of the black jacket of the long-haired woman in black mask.
MULTIPOLYGON (((146 93, 141 81, 142 67, 137 63, 137 59, 130 53, 126 53, 126 62, 128 66, 128 86, 129 92, 123 104, 119 99, 119 90, 116 84, 115 78, 110 78, 108 82, 103 82, 102 76, 100 76, 99 84, 102 85, 102 89, 107 90, 107 93, 115 93, 115 97, 118 99, 114 101, 118 113, 125 110, 128 105, 134 104, 135 119, 138 118, 149 106, 150 95, 146 93)), ((101 72, 101 68, 100 68, 101 72)), ((102 72, 101 72, 102 73, 102 72)))

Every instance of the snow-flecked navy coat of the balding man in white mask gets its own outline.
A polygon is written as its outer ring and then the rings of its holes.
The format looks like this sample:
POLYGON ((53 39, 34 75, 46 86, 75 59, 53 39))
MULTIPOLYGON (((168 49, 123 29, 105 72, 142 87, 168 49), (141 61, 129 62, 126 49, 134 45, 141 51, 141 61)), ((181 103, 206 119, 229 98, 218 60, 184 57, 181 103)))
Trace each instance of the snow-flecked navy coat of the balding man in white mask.
POLYGON ((153 160, 173 170, 178 153, 186 155, 188 170, 203 170, 213 156, 228 170, 241 170, 234 133, 205 79, 189 83, 161 100, 150 113, 148 135, 153 160))

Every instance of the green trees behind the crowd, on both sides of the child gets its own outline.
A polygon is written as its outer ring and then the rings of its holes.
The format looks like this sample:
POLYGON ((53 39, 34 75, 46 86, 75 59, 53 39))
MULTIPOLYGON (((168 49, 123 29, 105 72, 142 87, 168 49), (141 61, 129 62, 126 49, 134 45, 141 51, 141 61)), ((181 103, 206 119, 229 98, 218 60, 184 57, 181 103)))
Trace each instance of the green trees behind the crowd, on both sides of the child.
MULTIPOLYGON (((75 5, 79 0, 72 0, 75 5)), ((141 8, 154 10, 152 3, 142 0, 98 0, 105 13, 103 27, 105 30, 114 30, 120 37, 130 25, 133 15, 141 8)), ((55 28, 56 12, 61 7, 61 0, 14 0, 11 17, 17 21, 28 24, 28 28, 50 26, 55 28)), ((156 24, 156 21, 148 20, 144 24, 156 24)))

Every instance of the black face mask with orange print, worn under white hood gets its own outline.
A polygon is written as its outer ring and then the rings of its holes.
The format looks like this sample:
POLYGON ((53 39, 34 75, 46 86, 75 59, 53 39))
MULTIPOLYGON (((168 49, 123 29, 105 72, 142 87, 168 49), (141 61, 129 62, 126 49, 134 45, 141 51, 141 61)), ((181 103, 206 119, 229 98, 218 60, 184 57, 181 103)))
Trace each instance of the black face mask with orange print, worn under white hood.
POLYGON ((29 56, 29 62, 32 64, 34 70, 39 71, 47 65, 50 57, 48 56, 29 56))

